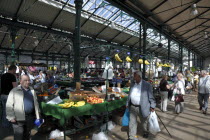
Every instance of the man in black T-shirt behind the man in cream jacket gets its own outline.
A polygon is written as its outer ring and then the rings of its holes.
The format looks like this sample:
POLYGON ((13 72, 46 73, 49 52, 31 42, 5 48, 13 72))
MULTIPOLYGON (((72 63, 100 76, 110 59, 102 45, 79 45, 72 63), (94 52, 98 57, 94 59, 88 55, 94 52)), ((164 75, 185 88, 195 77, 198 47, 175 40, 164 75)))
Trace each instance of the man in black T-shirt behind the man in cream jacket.
POLYGON ((3 127, 10 127, 10 123, 6 119, 6 102, 9 95, 9 92, 17 86, 16 82, 16 73, 17 67, 15 65, 11 65, 7 73, 1 76, 1 106, 2 106, 2 116, 1 123, 3 127))

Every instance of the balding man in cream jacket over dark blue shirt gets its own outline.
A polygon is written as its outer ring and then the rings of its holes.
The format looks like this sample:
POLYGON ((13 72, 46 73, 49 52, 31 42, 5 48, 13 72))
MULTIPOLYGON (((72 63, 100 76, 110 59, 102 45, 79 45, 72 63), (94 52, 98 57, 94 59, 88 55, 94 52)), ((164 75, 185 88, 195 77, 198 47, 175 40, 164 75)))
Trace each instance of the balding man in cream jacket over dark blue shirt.
POLYGON ((13 126, 14 140, 29 140, 35 116, 39 119, 36 93, 29 85, 29 76, 22 75, 20 85, 12 89, 8 96, 6 113, 13 126))

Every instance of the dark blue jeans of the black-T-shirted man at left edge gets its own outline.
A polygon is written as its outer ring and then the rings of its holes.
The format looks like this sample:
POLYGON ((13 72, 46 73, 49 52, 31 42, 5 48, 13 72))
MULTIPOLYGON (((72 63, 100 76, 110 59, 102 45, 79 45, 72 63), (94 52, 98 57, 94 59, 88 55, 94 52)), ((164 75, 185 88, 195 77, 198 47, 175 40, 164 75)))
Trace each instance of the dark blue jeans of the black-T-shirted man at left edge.
POLYGON ((1 103, 1 125, 3 127, 12 127, 11 123, 7 120, 6 118, 6 103, 7 103, 7 98, 8 96, 7 95, 1 95, 0 96, 1 100, 0 100, 0 103, 1 103))

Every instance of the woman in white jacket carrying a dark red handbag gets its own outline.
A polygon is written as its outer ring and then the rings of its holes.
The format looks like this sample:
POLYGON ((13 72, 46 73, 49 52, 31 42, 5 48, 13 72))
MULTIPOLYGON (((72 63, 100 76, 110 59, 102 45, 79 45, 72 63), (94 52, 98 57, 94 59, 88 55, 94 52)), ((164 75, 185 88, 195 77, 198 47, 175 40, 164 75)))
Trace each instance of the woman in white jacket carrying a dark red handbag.
POLYGON ((184 110, 184 95, 185 95, 185 82, 181 73, 177 74, 177 82, 175 83, 173 94, 175 96, 175 112, 181 113, 184 110))

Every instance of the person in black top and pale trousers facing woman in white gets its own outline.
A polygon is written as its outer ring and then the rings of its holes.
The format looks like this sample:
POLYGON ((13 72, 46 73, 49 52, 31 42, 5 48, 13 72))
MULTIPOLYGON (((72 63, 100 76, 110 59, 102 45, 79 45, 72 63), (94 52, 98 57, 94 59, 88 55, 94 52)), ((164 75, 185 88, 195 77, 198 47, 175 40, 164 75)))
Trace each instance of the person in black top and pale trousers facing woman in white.
POLYGON ((159 85, 160 95, 161 95, 161 110, 163 112, 167 111, 168 91, 170 89, 167 79, 168 79, 168 76, 164 75, 159 85))

